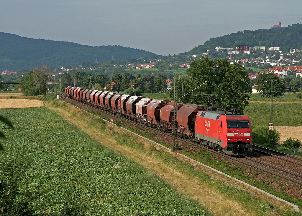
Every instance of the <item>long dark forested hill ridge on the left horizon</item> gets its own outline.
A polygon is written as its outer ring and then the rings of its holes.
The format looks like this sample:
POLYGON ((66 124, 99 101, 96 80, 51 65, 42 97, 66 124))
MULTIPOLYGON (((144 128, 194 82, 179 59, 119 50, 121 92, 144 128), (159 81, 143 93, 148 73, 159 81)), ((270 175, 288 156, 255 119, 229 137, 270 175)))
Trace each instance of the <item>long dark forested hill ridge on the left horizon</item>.
POLYGON ((43 64, 49 67, 95 63, 105 60, 138 59, 152 57, 154 53, 114 46, 87 46, 72 42, 52 41, 45 39, 25 38, 15 34, 0 32, 0 70, 19 70, 40 67, 43 64))

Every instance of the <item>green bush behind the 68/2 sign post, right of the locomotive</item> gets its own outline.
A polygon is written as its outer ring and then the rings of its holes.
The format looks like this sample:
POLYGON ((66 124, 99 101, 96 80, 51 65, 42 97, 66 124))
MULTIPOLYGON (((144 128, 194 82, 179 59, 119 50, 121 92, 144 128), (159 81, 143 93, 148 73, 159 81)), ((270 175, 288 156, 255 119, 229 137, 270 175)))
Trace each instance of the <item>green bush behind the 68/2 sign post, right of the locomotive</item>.
MULTIPOLYGON (((266 126, 253 126, 253 142, 257 144, 267 144, 269 143, 269 130, 266 126)), ((280 140, 280 134, 275 129, 274 130, 274 145, 278 145, 280 140)))

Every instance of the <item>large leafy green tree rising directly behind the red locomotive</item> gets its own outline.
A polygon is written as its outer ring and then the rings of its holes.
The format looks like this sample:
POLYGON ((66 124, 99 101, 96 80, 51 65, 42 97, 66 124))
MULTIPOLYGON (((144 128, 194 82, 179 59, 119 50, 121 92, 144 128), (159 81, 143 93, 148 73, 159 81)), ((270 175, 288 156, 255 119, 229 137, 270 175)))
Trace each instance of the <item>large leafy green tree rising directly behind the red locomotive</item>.
MULTIPOLYGON (((240 112, 249 104, 248 93, 251 87, 247 84, 249 78, 240 62, 231 64, 226 59, 212 60, 202 57, 191 62, 188 77, 184 85, 184 95, 193 91, 183 98, 183 103, 211 106, 212 101, 213 106, 220 109, 238 108, 240 112)), ((177 80, 178 98, 182 95, 181 82, 182 79, 177 80)), ((173 98, 174 83, 171 86, 170 96, 173 98)))

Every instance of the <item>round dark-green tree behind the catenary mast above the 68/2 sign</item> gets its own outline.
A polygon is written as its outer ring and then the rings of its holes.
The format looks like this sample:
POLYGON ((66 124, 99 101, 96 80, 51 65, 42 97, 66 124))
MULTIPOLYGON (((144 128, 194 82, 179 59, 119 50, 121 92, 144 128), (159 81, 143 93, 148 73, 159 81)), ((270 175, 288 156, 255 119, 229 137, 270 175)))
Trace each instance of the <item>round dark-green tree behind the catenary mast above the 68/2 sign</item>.
POLYGON ((281 97, 285 94, 284 81, 273 73, 261 73, 255 79, 258 86, 256 90, 260 92, 262 97, 271 97, 271 81, 274 85, 274 97, 281 97))

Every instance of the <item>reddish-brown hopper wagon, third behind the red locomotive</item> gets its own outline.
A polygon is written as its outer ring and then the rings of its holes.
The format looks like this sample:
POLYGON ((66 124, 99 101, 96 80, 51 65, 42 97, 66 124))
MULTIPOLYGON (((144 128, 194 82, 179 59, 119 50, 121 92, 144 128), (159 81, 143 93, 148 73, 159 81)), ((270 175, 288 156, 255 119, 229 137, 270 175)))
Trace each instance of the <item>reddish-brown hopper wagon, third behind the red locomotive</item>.
POLYGON ((151 127, 158 127, 160 123, 160 109, 165 106, 169 100, 153 99, 147 105, 147 122, 151 127))

